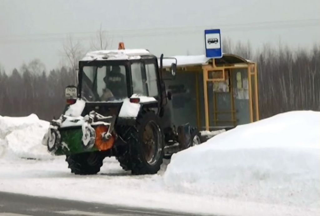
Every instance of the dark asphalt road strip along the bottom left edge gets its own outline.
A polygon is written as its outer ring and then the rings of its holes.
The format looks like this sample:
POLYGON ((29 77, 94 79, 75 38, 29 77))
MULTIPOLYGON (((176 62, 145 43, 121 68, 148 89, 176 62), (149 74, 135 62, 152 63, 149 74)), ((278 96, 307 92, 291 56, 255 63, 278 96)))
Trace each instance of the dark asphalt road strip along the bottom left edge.
MULTIPOLYGON (((139 196, 137 194, 137 196, 139 196)), ((150 216, 180 216, 193 215, 186 212, 168 212, 155 209, 129 208, 117 205, 97 204, 28 196, 0 192, 0 216, 65 216, 65 215, 150 215, 150 216)))

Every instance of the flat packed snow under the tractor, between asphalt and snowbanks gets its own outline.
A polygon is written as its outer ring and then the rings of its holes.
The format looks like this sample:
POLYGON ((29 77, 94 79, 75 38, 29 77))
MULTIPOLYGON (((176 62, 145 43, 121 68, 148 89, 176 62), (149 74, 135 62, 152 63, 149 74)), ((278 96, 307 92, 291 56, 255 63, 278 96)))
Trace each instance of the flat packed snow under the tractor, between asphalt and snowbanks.
POLYGON ((159 174, 132 176, 122 170, 115 158, 106 158, 99 174, 79 176, 70 173, 65 157, 56 158, 46 161, 0 159, 0 191, 196 215, 318 215, 315 209, 180 193, 164 185, 165 164, 159 174))

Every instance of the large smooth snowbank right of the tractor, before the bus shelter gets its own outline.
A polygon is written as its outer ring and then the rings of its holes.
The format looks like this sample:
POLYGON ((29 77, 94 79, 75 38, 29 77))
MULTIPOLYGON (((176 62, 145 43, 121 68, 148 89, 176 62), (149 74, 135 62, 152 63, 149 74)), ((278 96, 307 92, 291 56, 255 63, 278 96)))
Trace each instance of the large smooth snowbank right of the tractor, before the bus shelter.
POLYGON ((292 111, 174 154, 167 187, 242 201, 320 208, 320 112, 292 111))

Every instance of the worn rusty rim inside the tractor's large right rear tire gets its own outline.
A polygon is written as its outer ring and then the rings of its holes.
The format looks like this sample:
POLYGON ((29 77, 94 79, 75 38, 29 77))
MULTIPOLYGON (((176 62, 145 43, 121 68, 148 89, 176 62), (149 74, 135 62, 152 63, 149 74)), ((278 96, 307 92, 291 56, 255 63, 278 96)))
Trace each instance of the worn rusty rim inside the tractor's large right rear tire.
POLYGON ((159 126, 150 121, 143 131, 143 155, 148 164, 153 165, 159 160, 162 150, 162 136, 159 126))

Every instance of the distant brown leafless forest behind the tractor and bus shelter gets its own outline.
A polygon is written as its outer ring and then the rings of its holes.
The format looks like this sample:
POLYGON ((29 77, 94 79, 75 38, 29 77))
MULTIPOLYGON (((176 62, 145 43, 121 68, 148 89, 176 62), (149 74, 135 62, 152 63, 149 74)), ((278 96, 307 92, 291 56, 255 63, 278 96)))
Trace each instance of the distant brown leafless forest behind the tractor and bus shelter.
MULTIPOLYGON (((290 110, 320 111, 319 45, 310 50, 266 45, 253 52, 250 44, 226 40, 223 49, 258 63, 260 118, 290 110)), ((68 57, 73 62, 70 67, 49 72, 40 60, 14 69, 10 76, 0 70, 0 115, 59 117, 65 107, 65 87, 75 82, 76 58, 68 57)))

